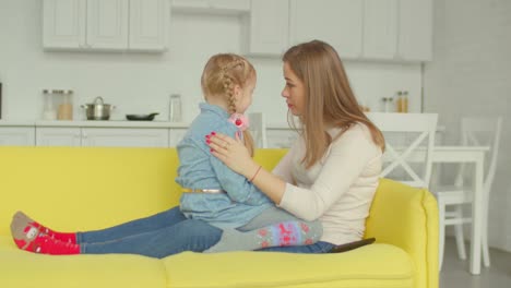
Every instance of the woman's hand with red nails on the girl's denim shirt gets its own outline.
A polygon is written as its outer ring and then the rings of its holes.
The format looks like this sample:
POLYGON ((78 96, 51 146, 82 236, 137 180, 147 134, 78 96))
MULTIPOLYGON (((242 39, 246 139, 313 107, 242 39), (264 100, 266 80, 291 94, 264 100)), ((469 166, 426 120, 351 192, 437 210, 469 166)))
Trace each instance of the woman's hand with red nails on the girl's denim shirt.
POLYGON ((250 178, 259 169, 259 165, 250 157, 249 151, 237 133, 236 139, 231 139, 212 132, 206 135, 206 143, 211 147, 211 153, 235 172, 250 178))

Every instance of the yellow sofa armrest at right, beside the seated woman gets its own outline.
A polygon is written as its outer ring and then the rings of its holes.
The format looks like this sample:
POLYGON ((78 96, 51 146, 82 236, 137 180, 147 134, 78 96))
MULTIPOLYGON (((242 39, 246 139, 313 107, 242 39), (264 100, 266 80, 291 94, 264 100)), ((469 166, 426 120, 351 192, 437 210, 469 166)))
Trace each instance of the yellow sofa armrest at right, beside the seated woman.
POLYGON ((415 287, 438 287, 438 207, 428 190, 381 179, 366 223, 369 237, 409 254, 415 287))

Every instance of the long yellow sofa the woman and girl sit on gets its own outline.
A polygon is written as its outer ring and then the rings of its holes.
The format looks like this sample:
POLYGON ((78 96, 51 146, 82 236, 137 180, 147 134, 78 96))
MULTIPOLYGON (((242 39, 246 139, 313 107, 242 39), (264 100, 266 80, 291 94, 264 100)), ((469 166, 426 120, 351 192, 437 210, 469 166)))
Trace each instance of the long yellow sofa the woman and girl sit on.
MULTIPOLYGON (((255 158, 271 169, 284 154, 259 149, 255 158)), ((0 287, 438 287, 435 199, 388 179, 367 219, 377 243, 345 253, 49 256, 12 241, 17 209, 74 231, 175 206, 177 165, 173 148, 0 147, 0 287)))

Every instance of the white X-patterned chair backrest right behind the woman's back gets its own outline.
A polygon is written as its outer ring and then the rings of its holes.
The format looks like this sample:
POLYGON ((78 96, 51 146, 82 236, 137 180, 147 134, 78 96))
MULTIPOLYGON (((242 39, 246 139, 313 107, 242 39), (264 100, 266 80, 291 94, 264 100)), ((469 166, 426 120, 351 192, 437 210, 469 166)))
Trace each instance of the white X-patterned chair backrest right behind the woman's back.
POLYGON ((437 113, 368 112, 385 136, 381 177, 416 188, 429 188, 437 113))

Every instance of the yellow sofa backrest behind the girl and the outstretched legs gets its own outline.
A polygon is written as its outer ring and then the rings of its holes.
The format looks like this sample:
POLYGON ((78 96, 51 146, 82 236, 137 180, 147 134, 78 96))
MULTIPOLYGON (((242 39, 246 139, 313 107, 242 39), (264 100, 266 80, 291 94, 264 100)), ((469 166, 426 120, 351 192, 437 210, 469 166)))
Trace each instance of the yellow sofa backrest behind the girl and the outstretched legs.
MULTIPOLYGON (((285 149, 260 149, 271 169, 285 149)), ((0 235, 24 211, 61 230, 88 230, 178 205, 175 148, 0 147, 0 235)))

